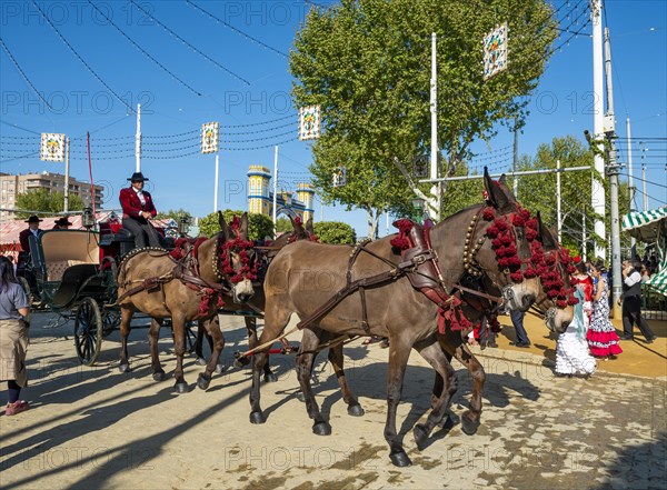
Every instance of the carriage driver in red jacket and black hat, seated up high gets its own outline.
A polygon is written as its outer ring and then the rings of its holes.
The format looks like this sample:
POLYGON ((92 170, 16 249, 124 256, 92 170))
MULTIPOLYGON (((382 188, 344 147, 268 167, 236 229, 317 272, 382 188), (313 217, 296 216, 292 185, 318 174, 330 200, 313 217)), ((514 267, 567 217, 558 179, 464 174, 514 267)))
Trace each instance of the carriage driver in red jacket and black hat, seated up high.
POLYGON ((122 207, 122 227, 135 236, 135 246, 145 248, 161 247, 158 232, 150 223, 158 213, 152 197, 143 190, 143 182, 148 179, 141 172, 132 173, 128 179, 131 186, 121 189, 119 200, 122 207))

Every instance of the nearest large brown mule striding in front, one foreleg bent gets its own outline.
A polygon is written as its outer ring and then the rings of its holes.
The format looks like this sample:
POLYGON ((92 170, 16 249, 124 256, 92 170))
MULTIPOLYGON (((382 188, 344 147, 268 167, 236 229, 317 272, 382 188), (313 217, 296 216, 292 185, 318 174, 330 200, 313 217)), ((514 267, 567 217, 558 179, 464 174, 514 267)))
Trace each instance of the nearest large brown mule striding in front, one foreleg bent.
MULTIPOLYGON (((485 179, 485 186, 498 217, 509 216, 517 211, 516 203, 504 192, 500 186, 485 179)), ((468 268, 461 261, 464 251, 468 252, 468 243, 477 243, 476 267, 485 271, 495 282, 506 279, 496 261, 496 253, 490 243, 482 240, 490 222, 476 220, 481 207, 472 207, 461 211, 435 227, 430 238, 432 250, 445 281, 456 282, 464 277, 468 268), (466 236, 468 230, 468 236, 466 236), (467 241, 466 241, 467 240, 467 241)), ((354 263, 350 274, 355 278, 385 277, 388 264, 397 270, 401 258, 392 251, 391 237, 368 244, 366 253, 360 253, 354 263)), ((348 263, 350 250, 341 246, 313 244, 307 241, 295 243, 283 249, 269 267, 265 282, 267 297, 265 328, 260 337, 263 346, 280 336, 291 313, 301 319, 316 313, 318 308, 336 296, 348 283, 348 263), (313 264, 305 269, 303 263, 313 264)), ((351 266, 350 266, 351 267, 351 266)), ((524 281, 520 287, 505 286, 504 291, 511 299, 510 308, 528 308, 539 293, 538 281, 524 281)), ((322 314, 313 328, 338 337, 341 334, 368 334, 389 337, 389 372, 388 372, 388 416, 385 438, 390 447, 390 459, 397 466, 410 463, 408 456, 396 432, 396 409, 400 400, 402 378, 410 349, 415 348, 444 379, 444 390, 434 404, 424 431, 428 436, 444 417, 455 389, 454 370, 445 358, 437 341, 437 319, 439 306, 418 292, 405 274, 392 276, 384 284, 366 288, 366 300, 372 309, 366 311, 359 296, 350 296, 322 314), (360 320, 361 318, 365 321, 360 320)), ((255 353, 252 391, 250 393, 250 421, 263 423, 265 416, 260 408, 259 373, 266 362, 266 348, 255 353)), ((330 433, 330 426, 322 419, 309 386, 309 366, 299 369, 299 382, 306 397, 309 416, 315 420, 313 432, 330 433)))

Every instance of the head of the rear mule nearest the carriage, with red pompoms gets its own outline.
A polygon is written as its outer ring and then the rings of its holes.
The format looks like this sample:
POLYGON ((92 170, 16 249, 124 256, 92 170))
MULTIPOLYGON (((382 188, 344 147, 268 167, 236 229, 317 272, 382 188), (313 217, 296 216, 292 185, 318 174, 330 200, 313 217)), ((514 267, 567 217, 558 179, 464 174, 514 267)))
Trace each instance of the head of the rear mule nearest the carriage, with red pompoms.
POLYGON ((245 212, 240 219, 233 217, 232 222, 227 224, 218 211, 218 223, 221 231, 217 237, 213 262, 216 276, 229 281, 235 302, 247 302, 255 294, 252 281, 257 279, 258 268, 255 243, 248 240, 248 213, 245 212))

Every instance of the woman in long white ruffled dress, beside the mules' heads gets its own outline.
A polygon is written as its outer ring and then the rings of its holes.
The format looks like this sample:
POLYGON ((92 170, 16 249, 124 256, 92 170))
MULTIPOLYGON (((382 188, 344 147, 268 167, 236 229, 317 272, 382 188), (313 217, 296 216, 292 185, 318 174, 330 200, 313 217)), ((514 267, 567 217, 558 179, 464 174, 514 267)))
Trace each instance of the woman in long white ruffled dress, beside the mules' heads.
POLYGON ((588 274, 581 272, 584 267, 578 268, 576 276, 570 281, 576 284, 575 298, 579 302, 575 304, 573 321, 570 321, 565 332, 558 336, 558 342, 556 343, 556 376, 589 377, 596 370, 595 358, 588 352, 588 342, 586 341, 588 318, 584 311, 584 307, 586 304, 586 289, 588 289, 588 281, 585 278, 588 274), (577 279, 577 277, 580 279, 577 279))

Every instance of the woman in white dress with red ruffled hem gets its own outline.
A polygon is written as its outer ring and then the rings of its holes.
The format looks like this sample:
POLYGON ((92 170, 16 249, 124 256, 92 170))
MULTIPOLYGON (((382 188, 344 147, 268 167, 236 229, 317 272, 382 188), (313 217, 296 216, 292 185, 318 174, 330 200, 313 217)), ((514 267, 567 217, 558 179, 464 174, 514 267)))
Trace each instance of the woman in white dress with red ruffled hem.
POLYGON ((616 329, 609 321, 609 287, 604 278, 605 267, 601 262, 593 266, 591 273, 597 279, 597 286, 593 293, 593 318, 586 338, 590 353, 596 358, 615 359, 623 352, 618 343, 616 329))

